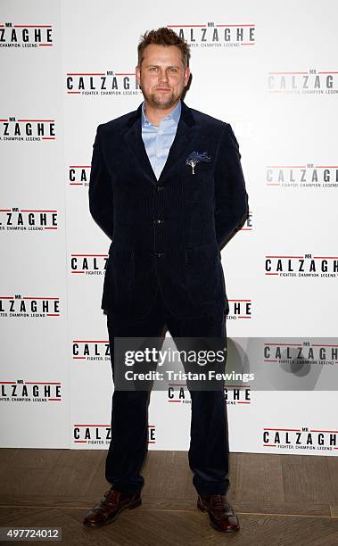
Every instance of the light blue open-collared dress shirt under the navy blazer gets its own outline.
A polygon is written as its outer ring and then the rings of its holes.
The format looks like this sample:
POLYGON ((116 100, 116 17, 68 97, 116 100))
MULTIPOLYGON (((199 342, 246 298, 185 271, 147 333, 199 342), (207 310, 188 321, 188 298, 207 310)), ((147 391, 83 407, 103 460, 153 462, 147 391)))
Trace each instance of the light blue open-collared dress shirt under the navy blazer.
POLYGON ((159 126, 153 125, 148 120, 144 113, 144 105, 145 103, 142 104, 142 138, 153 172, 156 178, 159 179, 167 161, 170 146, 176 135, 182 109, 181 101, 177 103, 177 106, 168 116, 161 120, 159 126))

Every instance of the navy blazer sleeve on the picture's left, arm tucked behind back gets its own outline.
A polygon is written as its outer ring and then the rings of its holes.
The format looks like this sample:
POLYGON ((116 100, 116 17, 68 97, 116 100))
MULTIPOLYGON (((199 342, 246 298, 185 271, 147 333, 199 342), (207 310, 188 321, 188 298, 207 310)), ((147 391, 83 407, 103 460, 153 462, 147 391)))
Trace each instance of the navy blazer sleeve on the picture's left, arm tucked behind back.
POLYGON ((103 158, 100 125, 93 145, 92 168, 89 178, 89 211, 106 236, 113 236, 113 201, 109 172, 103 158))

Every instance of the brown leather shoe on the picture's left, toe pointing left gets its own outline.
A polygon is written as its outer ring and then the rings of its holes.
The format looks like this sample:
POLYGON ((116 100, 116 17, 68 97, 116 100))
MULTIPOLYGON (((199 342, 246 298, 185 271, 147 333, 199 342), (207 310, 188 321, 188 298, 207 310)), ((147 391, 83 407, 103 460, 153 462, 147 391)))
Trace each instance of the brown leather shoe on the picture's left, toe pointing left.
POLYGON ((114 521, 122 510, 135 509, 140 504, 142 504, 140 492, 125 495, 111 487, 104 493, 103 499, 87 513, 83 523, 89 527, 102 527, 114 521))

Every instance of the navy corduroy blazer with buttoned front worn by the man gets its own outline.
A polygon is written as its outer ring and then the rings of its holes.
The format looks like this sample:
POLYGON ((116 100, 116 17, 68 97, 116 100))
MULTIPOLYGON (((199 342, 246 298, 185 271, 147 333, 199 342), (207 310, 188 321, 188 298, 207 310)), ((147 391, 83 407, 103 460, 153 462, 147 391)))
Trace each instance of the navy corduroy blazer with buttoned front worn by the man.
POLYGON ((157 180, 142 139, 141 106, 96 130, 89 209, 111 238, 102 309, 141 318, 160 289, 177 318, 226 314, 220 249, 248 215, 234 132, 182 101, 157 180), (193 170, 186 164, 192 153, 210 161, 193 170))

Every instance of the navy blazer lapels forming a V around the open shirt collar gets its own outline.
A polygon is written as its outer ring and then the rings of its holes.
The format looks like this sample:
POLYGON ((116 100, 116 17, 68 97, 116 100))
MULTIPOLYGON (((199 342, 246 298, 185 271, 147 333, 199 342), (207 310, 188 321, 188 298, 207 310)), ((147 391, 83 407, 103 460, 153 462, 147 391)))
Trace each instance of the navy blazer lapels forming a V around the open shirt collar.
POLYGON ((177 132, 170 147, 167 161, 161 171, 160 178, 157 180, 142 138, 141 109, 142 104, 139 105, 135 112, 135 116, 129 121, 129 127, 125 133, 125 140, 130 151, 136 156, 144 176, 156 186, 157 184, 163 183, 165 178, 168 178, 170 171, 177 166, 177 161, 179 161, 180 157, 185 153, 190 140, 194 136, 195 121, 190 108, 182 101, 182 110, 177 124, 177 132))

